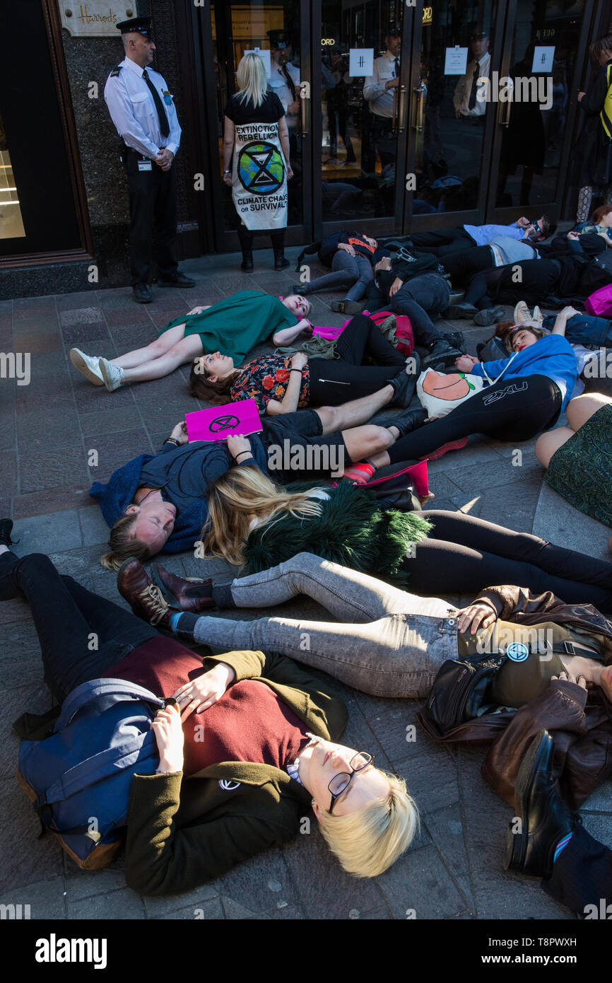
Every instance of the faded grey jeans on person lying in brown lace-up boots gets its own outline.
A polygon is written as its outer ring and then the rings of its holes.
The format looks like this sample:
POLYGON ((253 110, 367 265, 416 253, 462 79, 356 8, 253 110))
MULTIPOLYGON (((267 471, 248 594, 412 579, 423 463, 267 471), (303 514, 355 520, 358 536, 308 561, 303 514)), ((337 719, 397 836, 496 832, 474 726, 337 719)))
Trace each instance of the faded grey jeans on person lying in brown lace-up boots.
POLYGON ((200 644, 280 652, 374 696, 422 697, 446 659, 456 659, 457 612, 312 553, 227 585, 236 607, 274 607, 300 594, 338 619, 253 621, 200 617, 200 644))

